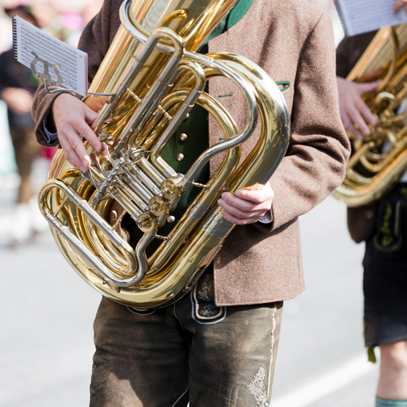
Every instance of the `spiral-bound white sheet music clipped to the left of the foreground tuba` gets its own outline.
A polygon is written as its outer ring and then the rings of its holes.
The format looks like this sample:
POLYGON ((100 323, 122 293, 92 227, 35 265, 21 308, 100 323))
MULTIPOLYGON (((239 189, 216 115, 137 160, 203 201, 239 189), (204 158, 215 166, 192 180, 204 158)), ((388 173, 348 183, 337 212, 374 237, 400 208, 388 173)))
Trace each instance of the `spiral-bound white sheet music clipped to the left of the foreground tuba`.
MULTIPOLYGON (((88 92, 88 54, 69 46, 59 39, 44 33, 18 16, 13 18, 14 25, 14 58, 21 64, 31 68, 34 51, 39 59, 49 64, 58 64, 62 86, 72 89, 81 96, 88 92)), ((36 62, 36 70, 44 72, 44 65, 36 62)), ((56 80, 54 70, 49 68, 49 76, 56 80)))

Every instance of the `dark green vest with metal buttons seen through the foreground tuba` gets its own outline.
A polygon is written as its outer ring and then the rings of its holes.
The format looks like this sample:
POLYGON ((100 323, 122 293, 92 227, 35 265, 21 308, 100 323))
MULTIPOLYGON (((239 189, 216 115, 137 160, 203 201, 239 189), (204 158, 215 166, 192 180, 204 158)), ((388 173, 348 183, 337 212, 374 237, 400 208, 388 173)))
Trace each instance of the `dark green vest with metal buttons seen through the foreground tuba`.
MULTIPOLYGON (((234 26, 246 14, 248 9, 250 9, 251 4, 253 4, 253 0, 238 0, 231 11, 229 11, 216 28, 213 29, 199 49, 199 52, 201 54, 208 54, 208 42, 226 32, 231 26, 234 26)), ((205 91, 208 91, 207 84, 205 91)), ((177 173, 186 174, 196 159, 208 149, 208 134, 208 112, 201 106, 195 105, 189 112, 189 119, 186 119, 181 126, 179 126, 176 134, 171 137, 168 144, 166 144, 164 150, 161 152, 161 156, 177 173), (181 134, 184 136, 181 136, 181 134)), ((205 168, 199 173, 199 176, 196 177, 195 181, 200 184, 206 184, 208 179, 209 164, 206 164, 205 168)), ((177 207, 174 211, 171 211, 171 216, 174 216, 176 221, 174 223, 165 223, 164 226, 159 228, 158 233, 161 236, 167 236, 170 233, 177 221, 179 221, 181 216, 184 215, 186 208, 188 208, 188 206, 194 201, 200 191, 201 188, 191 186, 191 188, 182 195, 177 207)), ((121 224, 129 229, 131 236, 130 244, 134 247, 142 236, 141 231, 134 221, 131 220, 130 216, 126 215, 121 224)), ((158 239, 154 239, 146 250, 147 256, 151 256, 161 243, 162 242, 158 239)))

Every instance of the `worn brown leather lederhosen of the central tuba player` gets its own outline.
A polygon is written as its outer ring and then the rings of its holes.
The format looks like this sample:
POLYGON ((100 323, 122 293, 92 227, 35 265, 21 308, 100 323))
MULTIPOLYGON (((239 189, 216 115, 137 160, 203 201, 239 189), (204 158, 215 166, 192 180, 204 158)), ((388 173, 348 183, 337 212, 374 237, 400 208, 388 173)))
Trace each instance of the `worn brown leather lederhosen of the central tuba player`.
MULTIPOLYGON (((207 286, 204 296, 213 301, 207 286)), ((283 303, 205 309, 199 296, 153 311, 102 298, 90 407, 258 407, 250 384, 259 369, 267 405, 283 303), (197 304, 205 311, 198 313, 197 304)))

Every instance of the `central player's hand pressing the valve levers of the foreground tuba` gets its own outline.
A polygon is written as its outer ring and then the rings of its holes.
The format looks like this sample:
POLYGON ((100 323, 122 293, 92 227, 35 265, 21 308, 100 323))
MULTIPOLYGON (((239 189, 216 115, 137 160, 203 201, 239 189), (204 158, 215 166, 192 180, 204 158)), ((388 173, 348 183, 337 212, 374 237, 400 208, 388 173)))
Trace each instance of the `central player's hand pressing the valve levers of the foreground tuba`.
POLYGON ((66 161, 83 172, 88 171, 91 159, 79 134, 89 141, 96 151, 102 155, 106 154, 104 145, 89 126, 98 114, 70 94, 61 94, 55 99, 52 114, 66 161))

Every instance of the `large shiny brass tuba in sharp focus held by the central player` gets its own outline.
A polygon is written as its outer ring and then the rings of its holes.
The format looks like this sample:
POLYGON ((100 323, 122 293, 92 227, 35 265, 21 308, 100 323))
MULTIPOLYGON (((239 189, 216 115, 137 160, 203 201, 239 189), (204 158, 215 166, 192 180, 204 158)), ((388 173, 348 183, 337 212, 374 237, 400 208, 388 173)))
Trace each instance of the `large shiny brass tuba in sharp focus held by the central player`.
MULTIPOLYGON (((56 153, 39 206, 76 273, 102 295, 135 308, 168 306, 185 295, 233 228, 216 204, 223 191, 265 184, 286 153, 290 122, 281 91, 256 64, 234 54, 203 55, 204 43, 236 0, 125 0, 121 26, 89 88, 106 103, 94 124, 108 158, 86 144, 84 174, 56 153), (247 103, 238 129, 231 114, 205 90, 214 76, 231 79, 247 103), (186 174, 161 156, 194 104, 223 129, 186 174), (261 122, 261 135, 239 165, 240 144, 261 122), (196 177, 216 154, 221 165, 206 184, 196 177), (181 196, 200 189, 174 228, 181 196), (141 233, 131 245, 120 224, 128 216, 141 233), (152 242, 159 247, 149 256, 152 242)), ((86 103, 86 101, 85 101, 86 103)))

